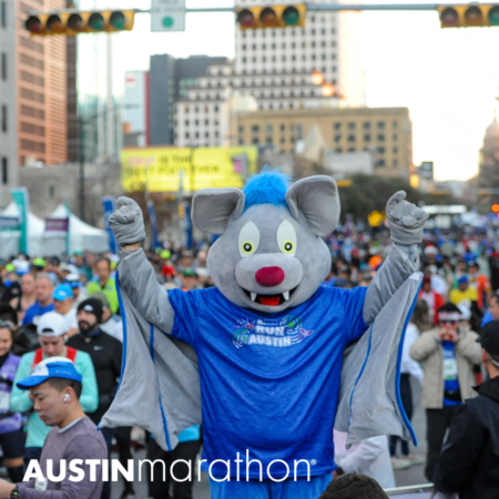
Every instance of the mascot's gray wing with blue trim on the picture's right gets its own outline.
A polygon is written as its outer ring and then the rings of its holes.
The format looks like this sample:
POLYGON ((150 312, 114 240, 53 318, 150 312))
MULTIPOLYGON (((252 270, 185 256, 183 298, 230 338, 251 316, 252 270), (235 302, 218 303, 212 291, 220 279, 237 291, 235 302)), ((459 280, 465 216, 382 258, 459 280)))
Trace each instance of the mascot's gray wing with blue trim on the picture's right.
POLYGON ((345 355, 335 428, 347 445, 396 435, 416 445, 400 399, 401 349, 422 274, 413 274, 389 298, 368 332, 345 355))

